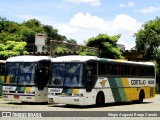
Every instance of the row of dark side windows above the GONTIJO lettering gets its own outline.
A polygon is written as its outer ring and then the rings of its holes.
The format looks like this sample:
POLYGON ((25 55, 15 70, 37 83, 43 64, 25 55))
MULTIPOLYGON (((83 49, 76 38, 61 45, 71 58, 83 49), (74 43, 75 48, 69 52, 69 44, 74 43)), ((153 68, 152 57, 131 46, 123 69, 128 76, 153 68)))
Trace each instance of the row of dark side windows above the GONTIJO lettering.
POLYGON ((99 75, 106 76, 119 76, 119 77, 154 77, 155 70, 153 66, 138 66, 138 65, 130 65, 130 64, 113 64, 113 63, 105 63, 99 62, 99 75))

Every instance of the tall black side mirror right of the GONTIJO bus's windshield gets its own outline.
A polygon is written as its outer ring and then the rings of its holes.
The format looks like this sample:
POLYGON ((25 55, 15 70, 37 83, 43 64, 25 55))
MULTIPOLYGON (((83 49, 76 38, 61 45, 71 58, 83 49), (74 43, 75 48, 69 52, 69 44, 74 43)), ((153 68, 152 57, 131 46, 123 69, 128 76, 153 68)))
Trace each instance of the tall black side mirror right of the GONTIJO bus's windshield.
POLYGON ((92 69, 87 69, 86 73, 86 91, 90 92, 92 90, 92 69))

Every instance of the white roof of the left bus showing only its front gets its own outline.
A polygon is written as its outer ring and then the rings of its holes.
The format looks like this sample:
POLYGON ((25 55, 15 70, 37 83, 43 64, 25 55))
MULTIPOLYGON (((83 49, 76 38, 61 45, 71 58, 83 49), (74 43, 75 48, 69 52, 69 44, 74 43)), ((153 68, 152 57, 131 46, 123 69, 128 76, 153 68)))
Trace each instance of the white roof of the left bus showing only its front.
POLYGON ((49 60, 50 57, 48 56, 31 56, 31 55, 24 55, 24 56, 15 56, 8 58, 6 62, 37 62, 39 60, 49 60))

